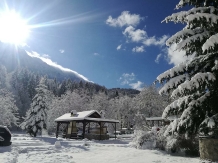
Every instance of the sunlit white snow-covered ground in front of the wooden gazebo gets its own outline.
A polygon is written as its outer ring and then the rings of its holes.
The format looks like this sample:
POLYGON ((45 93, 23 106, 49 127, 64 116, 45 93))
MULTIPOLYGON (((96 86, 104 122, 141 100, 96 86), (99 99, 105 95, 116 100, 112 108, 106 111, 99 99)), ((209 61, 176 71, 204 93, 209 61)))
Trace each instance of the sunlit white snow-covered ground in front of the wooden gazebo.
POLYGON ((86 141, 13 134, 12 145, 0 147, 0 163, 199 163, 199 158, 135 149, 130 141, 129 138, 86 141))

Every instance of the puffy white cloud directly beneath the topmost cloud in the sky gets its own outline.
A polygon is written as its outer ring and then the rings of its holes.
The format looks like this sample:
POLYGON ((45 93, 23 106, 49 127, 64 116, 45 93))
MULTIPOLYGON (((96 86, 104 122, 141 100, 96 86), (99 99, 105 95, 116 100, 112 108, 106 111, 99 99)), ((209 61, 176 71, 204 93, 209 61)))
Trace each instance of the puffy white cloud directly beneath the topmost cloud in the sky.
POLYGON ((147 38, 147 33, 141 29, 135 29, 133 26, 127 27, 123 34, 130 38, 132 42, 140 42, 147 38))

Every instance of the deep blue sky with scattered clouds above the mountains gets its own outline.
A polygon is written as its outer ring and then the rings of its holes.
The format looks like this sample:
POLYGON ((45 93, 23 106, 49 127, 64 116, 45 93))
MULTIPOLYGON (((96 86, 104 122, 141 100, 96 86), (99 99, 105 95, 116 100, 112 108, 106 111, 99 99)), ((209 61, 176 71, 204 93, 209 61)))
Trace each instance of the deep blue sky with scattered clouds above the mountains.
POLYGON ((107 88, 140 89, 178 64, 165 41, 182 25, 161 23, 172 0, 1 1, 32 26, 28 49, 107 88), (10 2, 10 3, 9 3, 10 2))

